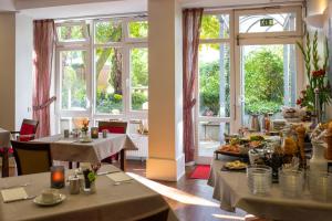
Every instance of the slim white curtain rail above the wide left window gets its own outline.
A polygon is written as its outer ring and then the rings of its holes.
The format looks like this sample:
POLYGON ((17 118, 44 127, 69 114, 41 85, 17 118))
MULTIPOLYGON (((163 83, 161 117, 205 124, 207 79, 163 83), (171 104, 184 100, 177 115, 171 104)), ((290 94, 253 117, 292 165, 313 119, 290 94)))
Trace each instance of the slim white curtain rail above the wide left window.
POLYGON ((114 13, 114 14, 97 14, 97 15, 84 15, 84 17, 69 17, 54 19, 55 22, 73 21, 73 20, 87 20, 87 19, 111 19, 111 18, 146 18, 147 12, 137 13, 114 13))

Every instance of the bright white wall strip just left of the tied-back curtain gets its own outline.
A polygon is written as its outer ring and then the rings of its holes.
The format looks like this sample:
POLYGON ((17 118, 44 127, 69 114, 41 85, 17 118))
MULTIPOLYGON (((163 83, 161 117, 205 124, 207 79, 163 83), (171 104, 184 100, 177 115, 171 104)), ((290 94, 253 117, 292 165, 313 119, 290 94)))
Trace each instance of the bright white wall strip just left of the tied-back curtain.
POLYGON ((32 19, 15 15, 15 129, 32 118, 32 19))

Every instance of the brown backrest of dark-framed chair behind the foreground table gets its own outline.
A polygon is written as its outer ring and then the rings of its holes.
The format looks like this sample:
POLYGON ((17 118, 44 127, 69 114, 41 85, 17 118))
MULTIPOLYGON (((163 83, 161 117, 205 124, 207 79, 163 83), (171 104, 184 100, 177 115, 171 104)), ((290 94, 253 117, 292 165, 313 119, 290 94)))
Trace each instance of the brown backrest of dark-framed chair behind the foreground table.
POLYGON ((53 165, 50 144, 11 140, 18 175, 50 171, 53 165))

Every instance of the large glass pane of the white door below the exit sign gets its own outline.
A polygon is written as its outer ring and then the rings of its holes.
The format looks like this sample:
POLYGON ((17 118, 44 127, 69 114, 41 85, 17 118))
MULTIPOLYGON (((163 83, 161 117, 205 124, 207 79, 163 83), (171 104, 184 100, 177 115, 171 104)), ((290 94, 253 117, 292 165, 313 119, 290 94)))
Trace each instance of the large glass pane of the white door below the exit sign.
POLYGON ((295 106, 297 54, 294 44, 241 45, 241 124, 252 114, 273 114, 295 106))

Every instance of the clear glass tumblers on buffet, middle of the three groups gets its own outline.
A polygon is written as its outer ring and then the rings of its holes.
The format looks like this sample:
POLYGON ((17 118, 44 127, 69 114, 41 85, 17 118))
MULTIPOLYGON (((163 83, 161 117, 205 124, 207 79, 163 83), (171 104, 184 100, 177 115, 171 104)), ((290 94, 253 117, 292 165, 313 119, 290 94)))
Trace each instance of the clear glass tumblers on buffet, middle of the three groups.
POLYGON ((284 197, 301 197, 304 187, 303 171, 292 169, 279 169, 279 185, 284 197))

